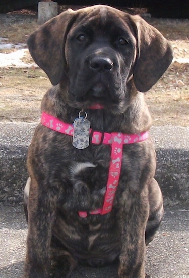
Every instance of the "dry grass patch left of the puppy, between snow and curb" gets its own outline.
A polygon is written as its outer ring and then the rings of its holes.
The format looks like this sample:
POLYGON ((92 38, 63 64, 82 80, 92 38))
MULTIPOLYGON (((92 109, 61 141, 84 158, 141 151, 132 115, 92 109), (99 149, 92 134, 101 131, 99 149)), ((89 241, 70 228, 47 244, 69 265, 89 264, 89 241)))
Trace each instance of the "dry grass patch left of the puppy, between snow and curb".
POLYGON ((50 87, 41 69, 0 69, 0 121, 33 122, 40 117, 40 103, 50 87))

